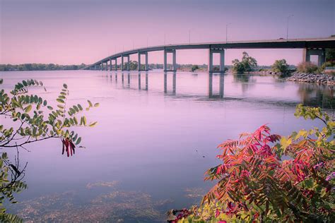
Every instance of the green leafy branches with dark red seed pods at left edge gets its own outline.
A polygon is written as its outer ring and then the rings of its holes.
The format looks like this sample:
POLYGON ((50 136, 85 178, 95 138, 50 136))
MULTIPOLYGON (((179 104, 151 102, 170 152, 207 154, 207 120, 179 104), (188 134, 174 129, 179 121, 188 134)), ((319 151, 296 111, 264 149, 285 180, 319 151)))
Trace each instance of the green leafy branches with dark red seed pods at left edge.
MULTIPOLYGON (((3 80, 0 79, 0 85, 3 80)), ((29 95, 30 88, 44 88, 37 80, 23 80, 15 85, 11 92, 0 91, 0 118, 11 123, 0 125, 0 222, 17 222, 18 217, 6 213, 4 200, 16 203, 15 193, 23 191, 27 185, 23 181, 25 167, 21 167, 18 157, 20 148, 41 140, 58 138, 63 145, 62 153, 74 155, 75 147, 81 143, 81 137, 71 131, 75 126, 95 126, 96 122, 88 123, 86 116, 78 116, 99 104, 88 101, 84 109, 81 104, 69 106, 67 98, 69 90, 66 84, 57 97, 57 108, 50 106, 47 100, 38 95, 29 95), (76 145, 75 145, 76 144, 76 145), (16 149, 17 155, 12 162, 6 149, 16 149)), ((44 88, 45 89, 45 88, 44 88)))

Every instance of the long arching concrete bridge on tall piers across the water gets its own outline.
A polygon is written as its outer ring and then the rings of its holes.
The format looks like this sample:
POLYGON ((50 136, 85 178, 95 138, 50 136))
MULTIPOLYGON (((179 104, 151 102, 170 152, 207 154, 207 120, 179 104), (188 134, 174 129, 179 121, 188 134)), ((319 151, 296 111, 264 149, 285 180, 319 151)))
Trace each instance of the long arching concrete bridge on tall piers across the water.
POLYGON ((119 52, 111 56, 107 56, 100 61, 95 62, 84 69, 88 70, 106 70, 117 71, 117 60, 121 59, 121 70, 129 71, 129 55, 138 54, 138 70, 148 71, 148 52, 163 51, 164 52, 164 71, 177 70, 177 49, 208 49, 208 71, 210 73, 224 73, 225 68, 225 49, 304 49, 303 61, 310 61, 310 56, 318 56, 318 65, 324 64, 326 59, 325 49, 335 48, 335 37, 315 38, 315 39, 291 39, 291 40, 254 40, 240 42, 205 42, 192 44, 167 44, 154 47, 143 47, 119 52), (167 66, 167 54, 172 54, 172 68, 167 66), (220 54, 220 67, 218 71, 213 69, 213 54, 220 54), (145 56, 142 66, 141 55, 145 56), (127 63, 124 63, 127 59, 127 63), (114 61, 114 66, 112 61, 114 61), (110 64, 110 66, 108 66, 110 64))

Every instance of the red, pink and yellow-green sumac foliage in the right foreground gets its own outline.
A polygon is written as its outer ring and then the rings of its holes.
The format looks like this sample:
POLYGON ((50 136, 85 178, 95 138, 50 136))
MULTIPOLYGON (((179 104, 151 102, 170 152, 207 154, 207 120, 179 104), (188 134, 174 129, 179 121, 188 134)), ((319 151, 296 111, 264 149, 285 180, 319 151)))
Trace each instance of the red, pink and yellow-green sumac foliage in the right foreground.
POLYGON ((334 222, 335 122, 302 104, 295 116, 324 127, 282 137, 264 125, 218 145, 222 164, 206 172, 217 183, 182 221, 334 222))

